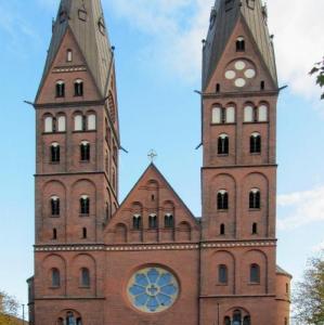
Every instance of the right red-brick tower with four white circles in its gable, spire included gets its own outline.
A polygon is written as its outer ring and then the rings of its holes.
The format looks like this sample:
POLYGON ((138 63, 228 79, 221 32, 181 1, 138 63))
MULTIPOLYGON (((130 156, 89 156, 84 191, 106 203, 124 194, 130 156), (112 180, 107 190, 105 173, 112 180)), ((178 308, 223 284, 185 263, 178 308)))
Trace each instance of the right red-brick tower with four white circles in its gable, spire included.
POLYGON ((278 87, 267 20, 261 0, 217 0, 204 41, 200 324, 216 317, 225 325, 288 324, 288 304, 285 315, 269 313, 282 300, 275 298, 278 87))

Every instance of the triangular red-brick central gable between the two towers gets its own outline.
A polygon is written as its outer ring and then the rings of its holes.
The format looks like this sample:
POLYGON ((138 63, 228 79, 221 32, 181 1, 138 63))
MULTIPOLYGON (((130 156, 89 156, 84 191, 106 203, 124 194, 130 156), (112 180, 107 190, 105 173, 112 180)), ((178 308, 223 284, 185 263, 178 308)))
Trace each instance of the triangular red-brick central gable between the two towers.
POLYGON ((131 190, 105 232, 107 244, 199 240, 199 226, 152 164, 131 190))

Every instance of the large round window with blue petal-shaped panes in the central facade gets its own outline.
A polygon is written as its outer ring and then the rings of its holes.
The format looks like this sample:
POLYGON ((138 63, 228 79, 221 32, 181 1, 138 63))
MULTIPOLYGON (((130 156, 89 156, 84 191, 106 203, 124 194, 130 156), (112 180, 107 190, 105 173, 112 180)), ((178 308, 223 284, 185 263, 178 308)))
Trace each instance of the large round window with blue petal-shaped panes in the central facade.
POLYGON ((127 286, 132 306, 145 313, 169 309, 179 296, 176 276, 161 268, 146 268, 135 272, 127 286))

